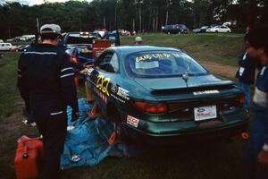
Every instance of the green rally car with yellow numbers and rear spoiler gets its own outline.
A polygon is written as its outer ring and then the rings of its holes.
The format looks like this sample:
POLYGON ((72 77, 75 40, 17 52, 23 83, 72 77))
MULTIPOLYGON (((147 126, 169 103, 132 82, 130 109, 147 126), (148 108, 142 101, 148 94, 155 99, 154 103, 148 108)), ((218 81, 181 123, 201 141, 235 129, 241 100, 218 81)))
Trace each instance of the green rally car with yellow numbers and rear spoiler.
POLYGON ((98 107, 130 141, 225 139, 247 129, 244 94, 172 47, 109 47, 89 68, 98 107))

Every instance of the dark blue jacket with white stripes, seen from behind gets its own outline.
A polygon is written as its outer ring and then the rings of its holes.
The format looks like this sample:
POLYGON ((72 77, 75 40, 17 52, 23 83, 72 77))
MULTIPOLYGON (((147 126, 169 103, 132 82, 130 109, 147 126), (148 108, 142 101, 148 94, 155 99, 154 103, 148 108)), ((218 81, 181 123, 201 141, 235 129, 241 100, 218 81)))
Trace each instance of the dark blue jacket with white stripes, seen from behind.
POLYGON ((62 114, 69 105, 79 111, 74 72, 62 48, 37 44, 20 56, 18 88, 34 116, 62 114))

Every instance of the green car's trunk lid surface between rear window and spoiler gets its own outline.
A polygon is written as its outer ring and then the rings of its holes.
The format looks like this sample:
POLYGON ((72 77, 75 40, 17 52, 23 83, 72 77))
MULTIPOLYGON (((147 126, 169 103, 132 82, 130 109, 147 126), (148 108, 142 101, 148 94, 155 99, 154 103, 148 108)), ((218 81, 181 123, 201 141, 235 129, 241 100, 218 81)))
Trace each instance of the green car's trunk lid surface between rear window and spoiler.
POLYGON ((163 92, 170 90, 202 89, 205 87, 233 85, 233 81, 223 80, 212 74, 202 76, 189 76, 188 81, 182 77, 135 79, 135 81, 150 92, 163 92))

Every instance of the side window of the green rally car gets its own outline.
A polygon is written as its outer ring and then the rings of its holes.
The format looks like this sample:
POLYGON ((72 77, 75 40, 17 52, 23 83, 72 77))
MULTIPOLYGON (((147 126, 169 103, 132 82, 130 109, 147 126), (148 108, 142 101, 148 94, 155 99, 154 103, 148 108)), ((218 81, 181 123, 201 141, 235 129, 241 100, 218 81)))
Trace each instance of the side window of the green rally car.
POLYGON ((119 72, 118 56, 113 52, 108 52, 102 56, 97 65, 105 72, 119 72))

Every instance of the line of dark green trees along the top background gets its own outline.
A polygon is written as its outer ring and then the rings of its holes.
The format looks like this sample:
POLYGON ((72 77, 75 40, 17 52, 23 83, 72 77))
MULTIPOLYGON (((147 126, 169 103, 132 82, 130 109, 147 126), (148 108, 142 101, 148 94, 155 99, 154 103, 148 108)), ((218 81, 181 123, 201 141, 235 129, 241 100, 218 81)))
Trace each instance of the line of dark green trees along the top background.
POLYGON ((136 30, 157 32, 165 24, 188 28, 234 22, 234 28, 268 23, 266 0, 93 0, 25 5, 0 4, 0 38, 35 34, 37 23, 57 23, 63 31, 136 30), (38 20, 38 22, 37 22, 38 20))

